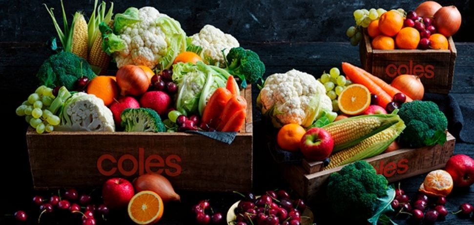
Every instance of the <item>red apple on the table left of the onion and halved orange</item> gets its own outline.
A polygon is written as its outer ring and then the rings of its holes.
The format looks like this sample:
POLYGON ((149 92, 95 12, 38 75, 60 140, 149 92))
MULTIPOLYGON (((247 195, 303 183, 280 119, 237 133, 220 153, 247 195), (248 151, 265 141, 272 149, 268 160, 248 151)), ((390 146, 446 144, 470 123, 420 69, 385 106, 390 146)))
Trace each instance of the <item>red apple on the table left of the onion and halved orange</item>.
POLYGON ((102 187, 103 203, 113 209, 128 206, 134 194, 133 185, 123 178, 111 178, 102 187))

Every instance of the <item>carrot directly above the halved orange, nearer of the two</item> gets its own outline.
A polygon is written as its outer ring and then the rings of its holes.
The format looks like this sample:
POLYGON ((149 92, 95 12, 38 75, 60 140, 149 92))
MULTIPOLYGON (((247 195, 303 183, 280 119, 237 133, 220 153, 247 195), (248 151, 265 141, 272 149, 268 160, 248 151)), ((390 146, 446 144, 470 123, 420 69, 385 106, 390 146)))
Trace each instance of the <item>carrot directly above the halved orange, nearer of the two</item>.
POLYGON ((387 104, 392 101, 392 97, 390 97, 390 95, 387 94, 381 87, 375 84, 375 82, 373 82, 369 77, 361 73, 357 68, 358 67, 351 65, 350 63, 342 63, 342 70, 344 71, 344 74, 346 74, 352 82, 366 86, 371 94, 376 94, 379 99, 378 105, 385 109, 387 104))

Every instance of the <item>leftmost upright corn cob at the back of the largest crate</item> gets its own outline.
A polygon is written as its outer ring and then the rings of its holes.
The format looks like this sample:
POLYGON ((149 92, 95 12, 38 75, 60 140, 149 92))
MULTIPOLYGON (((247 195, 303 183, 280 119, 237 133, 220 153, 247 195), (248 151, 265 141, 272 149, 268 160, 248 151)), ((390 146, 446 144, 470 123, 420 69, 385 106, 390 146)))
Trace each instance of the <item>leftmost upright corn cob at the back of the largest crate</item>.
POLYGON ((87 22, 84 19, 84 16, 80 12, 74 14, 74 19, 72 20, 72 39, 71 39, 71 52, 77 56, 87 59, 87 22))

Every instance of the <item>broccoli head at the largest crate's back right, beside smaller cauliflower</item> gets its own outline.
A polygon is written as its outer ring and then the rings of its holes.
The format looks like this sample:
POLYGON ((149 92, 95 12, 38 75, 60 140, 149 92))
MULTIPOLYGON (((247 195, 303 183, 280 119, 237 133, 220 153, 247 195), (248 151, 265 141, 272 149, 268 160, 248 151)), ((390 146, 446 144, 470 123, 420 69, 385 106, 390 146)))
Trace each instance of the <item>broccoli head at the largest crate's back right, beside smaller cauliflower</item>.
POLYGON ((230 74, 238 76, 242 81, 246 80, 248 83, 255 83, 265 73, 265 64, 251 50, 246 50, 242 47, 232 48, 226 58, 228 62, 226 69, 230 74))

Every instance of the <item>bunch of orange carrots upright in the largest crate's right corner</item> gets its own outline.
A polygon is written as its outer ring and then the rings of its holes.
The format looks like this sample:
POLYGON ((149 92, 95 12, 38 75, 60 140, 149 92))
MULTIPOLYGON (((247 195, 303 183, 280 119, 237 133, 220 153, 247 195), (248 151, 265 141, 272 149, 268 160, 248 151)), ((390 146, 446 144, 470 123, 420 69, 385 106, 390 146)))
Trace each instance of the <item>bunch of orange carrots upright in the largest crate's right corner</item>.
POLYGON ((227 79, 226 88, 218 88, 204 108, 202 124, 217 131, 239 131, 247 116, 247 101, 238 95, 233 76, 227 79))

